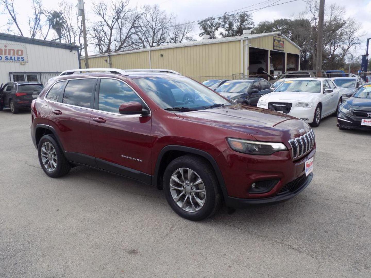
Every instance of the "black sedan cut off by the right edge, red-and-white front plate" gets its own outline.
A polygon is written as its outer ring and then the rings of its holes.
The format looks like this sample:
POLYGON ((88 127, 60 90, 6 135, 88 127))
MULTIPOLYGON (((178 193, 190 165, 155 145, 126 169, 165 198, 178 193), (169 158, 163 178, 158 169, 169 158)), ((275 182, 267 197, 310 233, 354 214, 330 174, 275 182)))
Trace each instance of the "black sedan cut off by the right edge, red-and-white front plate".
POLYGON ((337 126, 339 129, 371 130, 371 82, 359 87, 339 106, 337 126))

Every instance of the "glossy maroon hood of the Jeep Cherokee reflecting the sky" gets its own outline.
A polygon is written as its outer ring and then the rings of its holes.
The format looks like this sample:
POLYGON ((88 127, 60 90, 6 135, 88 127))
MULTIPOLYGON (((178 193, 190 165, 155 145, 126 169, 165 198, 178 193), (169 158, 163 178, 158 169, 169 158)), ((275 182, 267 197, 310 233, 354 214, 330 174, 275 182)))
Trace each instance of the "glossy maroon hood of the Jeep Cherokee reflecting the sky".
MULTIPOLYGON (((296 138, 299 129, 310 130, 304 121, 272 110, 245 105, 176 113, 179 118, 248 133, 257 140, 283 142, 296 138)), ((233 137, 231 133, 231 137, 233 137)))

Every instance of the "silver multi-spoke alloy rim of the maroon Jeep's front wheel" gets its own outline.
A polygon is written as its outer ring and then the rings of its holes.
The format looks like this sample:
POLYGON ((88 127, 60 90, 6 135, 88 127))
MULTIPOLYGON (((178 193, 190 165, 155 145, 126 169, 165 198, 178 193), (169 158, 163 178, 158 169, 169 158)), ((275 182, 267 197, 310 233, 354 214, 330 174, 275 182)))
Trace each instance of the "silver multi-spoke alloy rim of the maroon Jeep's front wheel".
POLYGON ((206 189, 200 176, 189 168, 179 168, 170 179, 170 193, 184 211, 199 211, 206 200, 206 189))

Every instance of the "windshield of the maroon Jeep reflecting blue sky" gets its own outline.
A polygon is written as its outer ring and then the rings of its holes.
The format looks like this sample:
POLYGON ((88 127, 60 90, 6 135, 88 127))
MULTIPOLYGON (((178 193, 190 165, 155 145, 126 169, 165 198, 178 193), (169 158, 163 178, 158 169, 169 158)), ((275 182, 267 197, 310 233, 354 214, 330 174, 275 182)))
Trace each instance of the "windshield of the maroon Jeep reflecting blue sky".
POLYGON ((147 77, 133 80, 162 109, 201 110, 231 103, 187 77, 147 77))

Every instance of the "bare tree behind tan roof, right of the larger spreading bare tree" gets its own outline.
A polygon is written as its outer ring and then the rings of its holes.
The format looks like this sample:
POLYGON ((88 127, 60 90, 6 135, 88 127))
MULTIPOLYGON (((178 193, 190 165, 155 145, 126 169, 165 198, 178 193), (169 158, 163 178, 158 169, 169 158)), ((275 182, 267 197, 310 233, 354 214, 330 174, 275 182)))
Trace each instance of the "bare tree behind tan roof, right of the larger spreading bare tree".
POLYGON ((166 14, 158 5, 144 6, 144 14, 135 27, 138 48, 160 46, 170 43, 168 28, 175 20, 173 14, 166 14))

